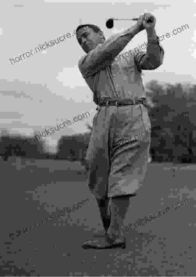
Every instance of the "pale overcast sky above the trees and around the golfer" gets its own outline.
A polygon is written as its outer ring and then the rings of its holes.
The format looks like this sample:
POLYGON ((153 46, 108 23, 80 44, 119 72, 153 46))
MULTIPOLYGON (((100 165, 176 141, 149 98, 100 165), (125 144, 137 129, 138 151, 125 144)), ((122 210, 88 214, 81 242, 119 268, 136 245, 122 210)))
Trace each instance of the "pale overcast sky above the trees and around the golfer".
MULTIPOLYGON (((66 1, 2 1, 0 17, 1 88, 0 129, 10 133, 31 135, 42 132, 65 120, 72 120, 84 112, 90 117, 65 127, 46 137, 49 145, 56 145, 62 135, 85 132, 85 123, 92 124, 96 105, 92 92, 78 70, 78 60, 85 54, 77 43, 74 30, 79 24, 98 25, 106 38, 134 24, 132 21, 114 22, 107 29, 110 17, 132 18, 150 12, 157 19, 157 35, 170 33, 182 25, 189 29, 165 38, 163 65, 153 71, 143 71, 144 84, 152 79, 161 82, 189 82, 195 84, 195 3, 194 1, 137 1, 136 3, 94 1, 68 3, 66 1), (71 33, 71 38, 33 54, 14 65, 15 58, 50 40, 71 33)), ((147 42, 146 31, 136 35, 126 52, 147 42)))

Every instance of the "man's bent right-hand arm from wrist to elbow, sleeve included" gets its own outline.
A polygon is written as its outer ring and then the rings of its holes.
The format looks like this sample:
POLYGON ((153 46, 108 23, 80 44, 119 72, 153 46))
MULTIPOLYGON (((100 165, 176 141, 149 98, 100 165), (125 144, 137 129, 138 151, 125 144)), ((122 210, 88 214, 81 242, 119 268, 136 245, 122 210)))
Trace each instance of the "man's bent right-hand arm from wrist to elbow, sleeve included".
POLYGON ((164 50, 159 44, 155 29, 146 29, 148 45, 145 52, 135 55, 135 62, 138 70, 153 70, 163 63, 164 50))

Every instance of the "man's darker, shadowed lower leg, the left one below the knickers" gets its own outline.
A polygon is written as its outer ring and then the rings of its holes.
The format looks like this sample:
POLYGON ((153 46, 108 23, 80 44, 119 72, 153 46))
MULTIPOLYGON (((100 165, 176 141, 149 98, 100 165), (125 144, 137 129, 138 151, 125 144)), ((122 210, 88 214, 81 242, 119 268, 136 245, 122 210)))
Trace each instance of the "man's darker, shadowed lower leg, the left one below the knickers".
POLYGON ((110 214, 108 213, 108 204, 109 204, 110 198, 106 197, 105 199, 101 199, 101 200, 96 198, 96 200, 101 214, 101 220, 107 232, 111 223, 111 213, 110 214))

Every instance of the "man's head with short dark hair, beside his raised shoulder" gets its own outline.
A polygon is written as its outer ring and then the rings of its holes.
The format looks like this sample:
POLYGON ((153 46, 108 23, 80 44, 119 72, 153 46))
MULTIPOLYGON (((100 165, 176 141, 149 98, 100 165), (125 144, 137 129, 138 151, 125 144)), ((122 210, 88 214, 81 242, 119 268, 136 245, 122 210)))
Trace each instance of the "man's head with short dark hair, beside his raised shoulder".
POLYGON ((104 35, 101 31, 95 33, 90 27, 85 26, 77 32, 77 40, 84 52, 88 53, 95 49, 99 43, 105 41, 104 35))

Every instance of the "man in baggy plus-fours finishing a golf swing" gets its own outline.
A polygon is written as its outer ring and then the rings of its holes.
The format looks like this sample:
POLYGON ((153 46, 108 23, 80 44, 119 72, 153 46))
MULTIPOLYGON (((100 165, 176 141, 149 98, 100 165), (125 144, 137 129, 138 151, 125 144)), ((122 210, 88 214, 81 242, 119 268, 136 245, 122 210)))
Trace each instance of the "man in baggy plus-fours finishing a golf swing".
POLYGON ((164 56, 155 32, 155 17, 147 23, 151 16, 141 15, 131 28, 107 40, 95 25, 76 29, 78 43, 86 53, 79 60, 79 70, 97 104, 86 155, 90 166, 88 185, 106 230, 104 238, 87 241, 84 248, 126 246, 122 224, 130 198, 136 196, 146 174, 150 148, 151 124, 141 70, 158 68, 164 56), (144 29, 148 38, 146 52, 119 55, 144 29), (136 135, 139 139, 135 139, 136 135))

